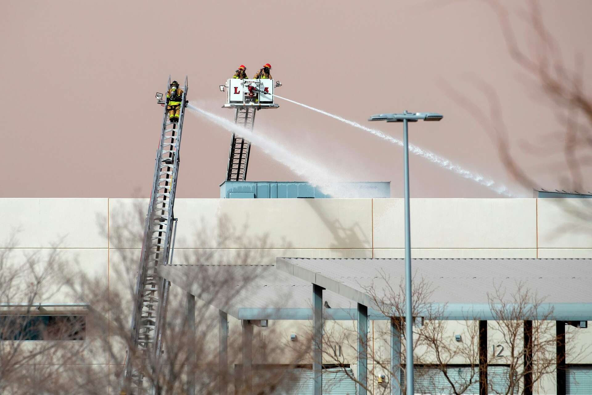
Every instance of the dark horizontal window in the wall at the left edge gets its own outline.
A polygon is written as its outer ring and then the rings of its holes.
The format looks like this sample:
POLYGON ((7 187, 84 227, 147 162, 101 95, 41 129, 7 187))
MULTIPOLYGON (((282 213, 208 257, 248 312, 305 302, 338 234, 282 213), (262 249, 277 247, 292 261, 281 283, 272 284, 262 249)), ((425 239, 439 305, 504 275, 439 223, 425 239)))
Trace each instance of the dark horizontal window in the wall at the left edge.
POLYGON ((0 316, 0 341, 83 341, 86 316, 0 316))

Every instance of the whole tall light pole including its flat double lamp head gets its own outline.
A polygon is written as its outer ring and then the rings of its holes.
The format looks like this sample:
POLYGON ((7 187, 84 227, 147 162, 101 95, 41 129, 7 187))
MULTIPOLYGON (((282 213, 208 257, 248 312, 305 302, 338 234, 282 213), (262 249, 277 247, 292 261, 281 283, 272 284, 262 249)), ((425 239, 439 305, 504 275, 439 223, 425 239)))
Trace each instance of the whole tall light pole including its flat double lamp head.
MULTIPOLYGON (((405 350, 406 350, 406 383, 407 395, 414 394, 413 388, 413 311, 411 311, 411 232, 409 215, 409 144, 407 123, 423 121, 439 121, 442 114, 408 113, 372 115, 369 121, 403 122, 403 163, 405 174, 405 350)), ((392 386, 392 384, 391 384, 392 386)))

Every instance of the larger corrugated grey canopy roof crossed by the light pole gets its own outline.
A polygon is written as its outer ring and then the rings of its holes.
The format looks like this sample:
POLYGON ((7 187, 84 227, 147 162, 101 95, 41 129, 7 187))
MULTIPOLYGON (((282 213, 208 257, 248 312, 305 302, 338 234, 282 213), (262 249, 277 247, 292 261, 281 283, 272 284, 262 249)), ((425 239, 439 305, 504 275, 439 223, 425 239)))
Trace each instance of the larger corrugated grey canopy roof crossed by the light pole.
MULTIPOLYGON (((397 293, 405 278, 404 262, 377 258, 277 258, 276 266, 379 309, 371 294, 377 300, 388 300, 392 290, 397 293)), ((583 314, 592 319, 592 259, 412 259, 412 270, 416 279, 423 278, 429 284, 429 302, 446 304, 453 316, 464 308, 465 312, 471 309, 485 319, 489 316, 485 313, 489 310, 488 296, 495 295, 497 287, 510 297, 522 284, 523 290, 553 304, 556 316, 575 320, 583 314), (574 314, 563 314, 564 310, 574 314)))

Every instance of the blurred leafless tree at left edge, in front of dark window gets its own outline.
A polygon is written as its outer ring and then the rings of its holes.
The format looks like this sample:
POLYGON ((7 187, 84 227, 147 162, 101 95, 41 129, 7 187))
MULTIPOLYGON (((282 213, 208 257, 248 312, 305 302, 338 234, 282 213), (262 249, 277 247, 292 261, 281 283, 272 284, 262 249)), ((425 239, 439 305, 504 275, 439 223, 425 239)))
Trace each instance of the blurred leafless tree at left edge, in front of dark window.
POLYGON ((24 252, 15 244, 16 236, 0 250, 0 392, 28 394, 82 352, 85 324, 59 307, 36 304, 63 285, 56 277, 59 251, 24 252))

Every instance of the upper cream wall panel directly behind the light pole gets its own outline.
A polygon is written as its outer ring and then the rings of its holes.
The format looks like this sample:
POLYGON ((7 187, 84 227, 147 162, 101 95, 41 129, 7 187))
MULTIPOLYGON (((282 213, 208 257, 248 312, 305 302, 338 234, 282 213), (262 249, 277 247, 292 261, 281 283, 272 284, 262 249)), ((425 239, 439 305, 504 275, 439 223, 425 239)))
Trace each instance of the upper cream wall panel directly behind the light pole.
MULTIPOLYGON (((374 199, 374 248, 404 248, 403 199, 374 199)), ((536 248, 535 199, 411 199, 413 248, 536 248)))

